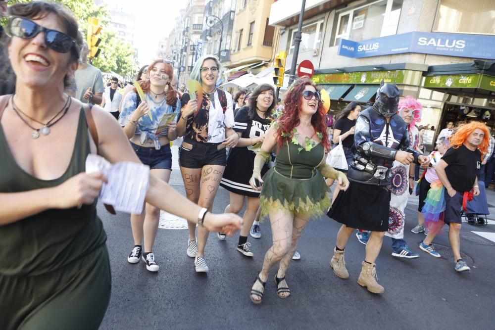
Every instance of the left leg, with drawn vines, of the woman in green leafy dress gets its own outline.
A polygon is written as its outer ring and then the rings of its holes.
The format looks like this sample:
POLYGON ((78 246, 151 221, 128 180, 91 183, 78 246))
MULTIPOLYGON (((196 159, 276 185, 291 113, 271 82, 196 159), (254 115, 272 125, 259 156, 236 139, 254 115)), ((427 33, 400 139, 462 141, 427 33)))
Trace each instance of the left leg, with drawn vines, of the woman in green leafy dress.
MULTIPOLYGON (((268 249, 263 260, 263 268, 259 273, 261 281, 266 282, 270 270, 277 262, 289 252, 292 241, 292 230, 294 216, 289 210, 272 211, 269 213, 270 224, 272 228, 273 245, 268 249)), ((259 281, 252 285, 252 289, 263 292, 263 286, 259 281)), ((254 300, 259 300, 258 296, 251 295, 254 300)))

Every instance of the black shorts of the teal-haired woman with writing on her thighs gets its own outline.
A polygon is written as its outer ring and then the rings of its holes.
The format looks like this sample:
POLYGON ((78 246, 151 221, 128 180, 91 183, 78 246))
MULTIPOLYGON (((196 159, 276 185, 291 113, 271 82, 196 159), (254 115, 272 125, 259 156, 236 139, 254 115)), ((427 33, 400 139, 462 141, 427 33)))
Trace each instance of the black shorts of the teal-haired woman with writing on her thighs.
POLYGON ((179 148, 179 165, 187 168, 202 168, 205 165, 225 166, 227 155, 225 148, 218 150, 220 143, 187 141, 193 145, 191 150, 181 145, 179 148))

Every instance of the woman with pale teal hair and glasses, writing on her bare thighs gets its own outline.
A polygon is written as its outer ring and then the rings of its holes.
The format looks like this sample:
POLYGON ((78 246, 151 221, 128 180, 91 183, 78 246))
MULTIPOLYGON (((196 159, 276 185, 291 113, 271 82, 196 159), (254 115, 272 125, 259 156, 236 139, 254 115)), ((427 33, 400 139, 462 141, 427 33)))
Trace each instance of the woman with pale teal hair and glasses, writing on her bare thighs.
MULTIPOLYGON (((236 146, 241 138, 241 134, 233 130, 232 96, 216 87, 219 70, 220 61, 216 56, 204 55, 198 59, 191 79, 201 85, 202 94, 196 95, 200 103, 196 99, 189 100, 177 122, 178 135, 184 137, 179 148, 179 164, 187 198, 207 209, 213 205, 225 169, 225 147, 236 146)), ((198 228, 196 241, 196 224, 189 218, 188 227, 186 253, 195 258, 196 272, 208 272, 204 258, 208 231, 198 228)), ((225 239, 223 234, 219 237, 225 239)))

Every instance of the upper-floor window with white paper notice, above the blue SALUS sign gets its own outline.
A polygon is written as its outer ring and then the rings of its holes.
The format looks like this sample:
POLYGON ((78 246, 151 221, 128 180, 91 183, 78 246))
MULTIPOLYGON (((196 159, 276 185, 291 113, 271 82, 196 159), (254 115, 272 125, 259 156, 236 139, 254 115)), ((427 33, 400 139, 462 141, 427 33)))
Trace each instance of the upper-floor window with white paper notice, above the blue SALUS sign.
POLYGON ((339 13, 330 46, 338 46, 341 39, 361 41, 395 35, 402 2, 379 0, 339 13))

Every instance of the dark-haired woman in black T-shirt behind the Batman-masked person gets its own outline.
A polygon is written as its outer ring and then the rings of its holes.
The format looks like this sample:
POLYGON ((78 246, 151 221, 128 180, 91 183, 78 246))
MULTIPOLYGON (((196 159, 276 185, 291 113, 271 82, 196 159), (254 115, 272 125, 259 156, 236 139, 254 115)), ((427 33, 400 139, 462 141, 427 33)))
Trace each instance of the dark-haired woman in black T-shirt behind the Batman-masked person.
MULTIPOLYGON (((344 148, 344 154, 346 155, 347 166, 350 166, 350 163, 352 162, 352 152, 350 151, 350 148, 354 144, 354 126, 356 125, 356 120, 359 113, 361 113, 361 106, 359 103, 350 102, 335 118, 336 122, 332 142, 339 144, 339 141, 342 140, 342 147, 344 148)), ((337 170, 347 173, 346 170, 337 170)), ((332 186, 333 184, 334 180, 327 180, 328 186, 332 186)), ((335 200, 338 194, 339 189, 336 188, 334 190, 332 200, 335 200)))

